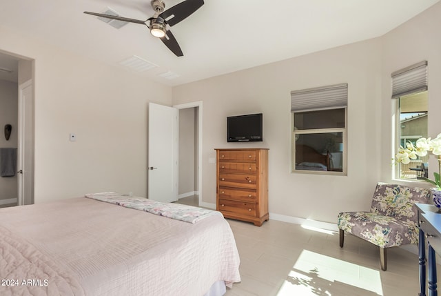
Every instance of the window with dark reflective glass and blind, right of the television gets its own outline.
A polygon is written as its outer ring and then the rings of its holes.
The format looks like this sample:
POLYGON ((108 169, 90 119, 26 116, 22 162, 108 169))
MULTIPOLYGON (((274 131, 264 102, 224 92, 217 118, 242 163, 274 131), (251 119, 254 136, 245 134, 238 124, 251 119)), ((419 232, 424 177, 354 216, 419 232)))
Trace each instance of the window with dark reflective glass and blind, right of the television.
POLYGON ((291 92, 291 172, 346 175, 346 102, 346 83, 291 92), (338 103, 336 97, 341 96, 335 87, 344 97, 338 103), (311 97, 305 99, 305 93, 311 97), (302 96, 302 101, 296 101, 296 96, 302 96), (314 106, 317 97, 322 100, 320 106, 314 106))

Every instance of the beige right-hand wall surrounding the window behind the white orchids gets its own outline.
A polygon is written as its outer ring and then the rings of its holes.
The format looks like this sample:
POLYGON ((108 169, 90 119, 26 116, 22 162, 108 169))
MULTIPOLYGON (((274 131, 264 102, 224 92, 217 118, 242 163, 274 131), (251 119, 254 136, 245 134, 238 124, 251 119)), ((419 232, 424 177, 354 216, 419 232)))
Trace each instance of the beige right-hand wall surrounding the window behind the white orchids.
MULTIPOLYGON (((429 137, 436 137, 441 132, 441 3, 402 24, 382 37, 382 98, 380 112, 377 117, 384 126, 381 130, 381 147, 376 153, 381 154, 380 172, 384 181, 394 181, 393 167, 390 159, 395 151, 395 143, 391 121, 396 101, 391 100, 391 73, 411 66, 413 63, 427 60, 427 75, 429 83, 429 137)), ((433 155, 429 157, 429 177, 433 177, 433 168, 438 168, 433 155)), ((414 186, 428 188, 425 182, 407 182, 414 186)))

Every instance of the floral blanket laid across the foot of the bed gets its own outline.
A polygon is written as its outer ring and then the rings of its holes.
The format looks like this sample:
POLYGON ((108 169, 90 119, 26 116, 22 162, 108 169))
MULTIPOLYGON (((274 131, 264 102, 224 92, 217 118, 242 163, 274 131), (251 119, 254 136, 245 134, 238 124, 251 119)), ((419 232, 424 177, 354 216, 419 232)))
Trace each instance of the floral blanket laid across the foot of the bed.
POLYGON ((212 215, 222 215, 220 212, 207 210, 205 208, 197 208, 195 206, 187 206, 183 204, 166 204, 160 201, 154 201, 152 199, 130 197, 114 192, 90 193, 86 194, 85 197, 105 201, 110 204, 116 204, 125 208, 143 210, 148 213, 181 220, 192 224, 212 215))

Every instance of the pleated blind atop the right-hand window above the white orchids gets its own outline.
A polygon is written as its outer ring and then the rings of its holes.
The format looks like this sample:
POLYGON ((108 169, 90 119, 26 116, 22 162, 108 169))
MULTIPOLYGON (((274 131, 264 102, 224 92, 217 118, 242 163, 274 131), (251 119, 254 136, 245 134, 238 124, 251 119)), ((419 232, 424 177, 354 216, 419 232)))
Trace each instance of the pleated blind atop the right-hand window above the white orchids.
POLYGON ((392 73, 392 99, 427 89, 427 61, 392 73))

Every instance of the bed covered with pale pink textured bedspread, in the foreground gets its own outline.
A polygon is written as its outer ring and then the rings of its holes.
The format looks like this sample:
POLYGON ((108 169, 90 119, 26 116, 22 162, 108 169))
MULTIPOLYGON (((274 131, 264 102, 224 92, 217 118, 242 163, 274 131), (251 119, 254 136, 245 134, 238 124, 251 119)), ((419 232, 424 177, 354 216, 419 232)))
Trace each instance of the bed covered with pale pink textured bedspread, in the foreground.
POLYGON ((239 256, 210 212, 191 223, 87 197, 0 209, 0 295, 223 293, 239 256))

